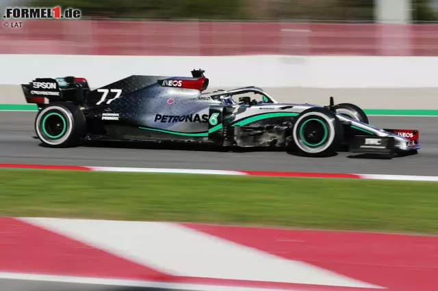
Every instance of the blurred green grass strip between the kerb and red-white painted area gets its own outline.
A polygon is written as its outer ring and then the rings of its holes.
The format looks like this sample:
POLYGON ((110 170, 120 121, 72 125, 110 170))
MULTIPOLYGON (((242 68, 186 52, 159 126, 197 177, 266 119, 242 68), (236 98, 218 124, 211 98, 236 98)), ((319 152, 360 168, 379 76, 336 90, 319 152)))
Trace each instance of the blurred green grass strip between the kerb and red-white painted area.
POLYGON ((0 216, 438 233, 438 183, 0 170, 0 216))

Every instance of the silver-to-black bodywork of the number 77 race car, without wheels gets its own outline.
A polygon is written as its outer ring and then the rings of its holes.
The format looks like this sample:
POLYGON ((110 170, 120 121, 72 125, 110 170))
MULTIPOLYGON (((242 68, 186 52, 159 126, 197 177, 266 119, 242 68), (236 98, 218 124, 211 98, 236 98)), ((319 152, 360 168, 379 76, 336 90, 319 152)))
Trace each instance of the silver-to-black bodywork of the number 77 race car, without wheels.
MULTIPOLYGON (((242 87, 229 91, 205 92, 208 79, 203 71, 192 71, 193 77, 158 77, 133 75, 85 94, 65 95, 72 84, 63 83, 42 95, 33 85, 23 85, 28 102, 44 96, 44 103, 68 101, 77 104, 86 116, 86 139, 125 141, 185 141, 215 143, 220 146, 287 147, 292 142, 291 127, 309 104, 279 104, 259 87, 242 87), (30 92, 36 92, 37 97, 30 92), (246 97, 255 94, 260 101, 246 97), (68 97, 70 96, 70 97, 68 97)), ((37 79, 49 82, 55 79, 37 79)), ((43 83, 44 83, 43 82, 43 83)), ((88 88, 88 83, 84 86, 88 88)), ((35 83, 35 81, 34 81, 35 83)), ((74 87, 73 89, 75 89, 74 87)), ((38 103, 38 102, 37 102, 38 103)), ((39 104, 39 107, 44 105, 39 104)), ((326 107, 329 110, 329 107, 326 107)), ((391 137, 398 150, 417 150, 418 143, 387 130, 336 114, 348 136, 391 137)), ((349 142, 346 140, 346 142, 349 142)))

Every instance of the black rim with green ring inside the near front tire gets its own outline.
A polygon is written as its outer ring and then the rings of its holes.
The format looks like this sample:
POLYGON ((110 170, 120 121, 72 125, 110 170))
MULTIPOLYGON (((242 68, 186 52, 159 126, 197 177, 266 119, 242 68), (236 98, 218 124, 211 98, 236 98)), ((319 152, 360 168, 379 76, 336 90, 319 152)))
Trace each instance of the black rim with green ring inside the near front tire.
POLYGON ((329 136, 326 124, 319 119, 312 118, 303 122, 300 126, 300 139, 309 147, 321 146, 329 136))

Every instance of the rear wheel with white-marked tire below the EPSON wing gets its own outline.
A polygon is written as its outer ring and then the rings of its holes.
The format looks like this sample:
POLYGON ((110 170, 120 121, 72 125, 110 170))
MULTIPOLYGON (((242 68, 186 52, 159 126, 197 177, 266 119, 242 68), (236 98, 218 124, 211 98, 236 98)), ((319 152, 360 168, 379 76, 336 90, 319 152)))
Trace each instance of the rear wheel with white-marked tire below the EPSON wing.
POLYGON ((86 133, 86 117, 73 103, 55 102, 40 110, 35 119, 35 131, 46 146, 74 147, 86 133))

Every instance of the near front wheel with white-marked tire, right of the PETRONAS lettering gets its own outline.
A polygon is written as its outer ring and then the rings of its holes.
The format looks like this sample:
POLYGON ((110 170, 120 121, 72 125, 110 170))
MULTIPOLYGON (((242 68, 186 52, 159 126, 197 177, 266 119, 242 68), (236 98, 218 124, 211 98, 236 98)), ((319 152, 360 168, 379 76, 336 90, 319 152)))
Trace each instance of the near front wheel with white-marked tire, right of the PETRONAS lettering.
POLYGON ((310 108, 296 117, 292 128, 294 146, 305 156, 329 156, 341 145, 344 128, 335 113, 310 108))

